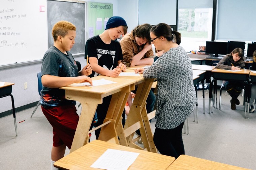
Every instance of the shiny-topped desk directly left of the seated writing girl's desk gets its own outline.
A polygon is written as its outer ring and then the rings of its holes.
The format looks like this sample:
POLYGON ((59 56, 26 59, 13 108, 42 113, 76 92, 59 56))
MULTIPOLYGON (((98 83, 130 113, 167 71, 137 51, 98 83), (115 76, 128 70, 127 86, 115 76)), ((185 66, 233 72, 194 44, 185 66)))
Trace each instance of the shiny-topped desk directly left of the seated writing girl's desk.
MULTIPOLYGON (((204 79, 209 79, 210 80, 210 87, 212 87, 212 81, 211 81, 211 76, 212 76, 212 70, 215 69, 216 66, 210 66, 210 65, 195 65, 192 64, 192 69, 193 70, 206 70, 206 72, 204 73, 204 79)), ((202 88, 203 88, 203 113, 205 113, 205 102, 204 102, 204 82, 202 81, 202 88)), ((212 109, 211 107, 211 100, 210 100, 210 95, 212 98, 212 94, 209 93, 209 114, 210 114, 210 110, 212 109)))

